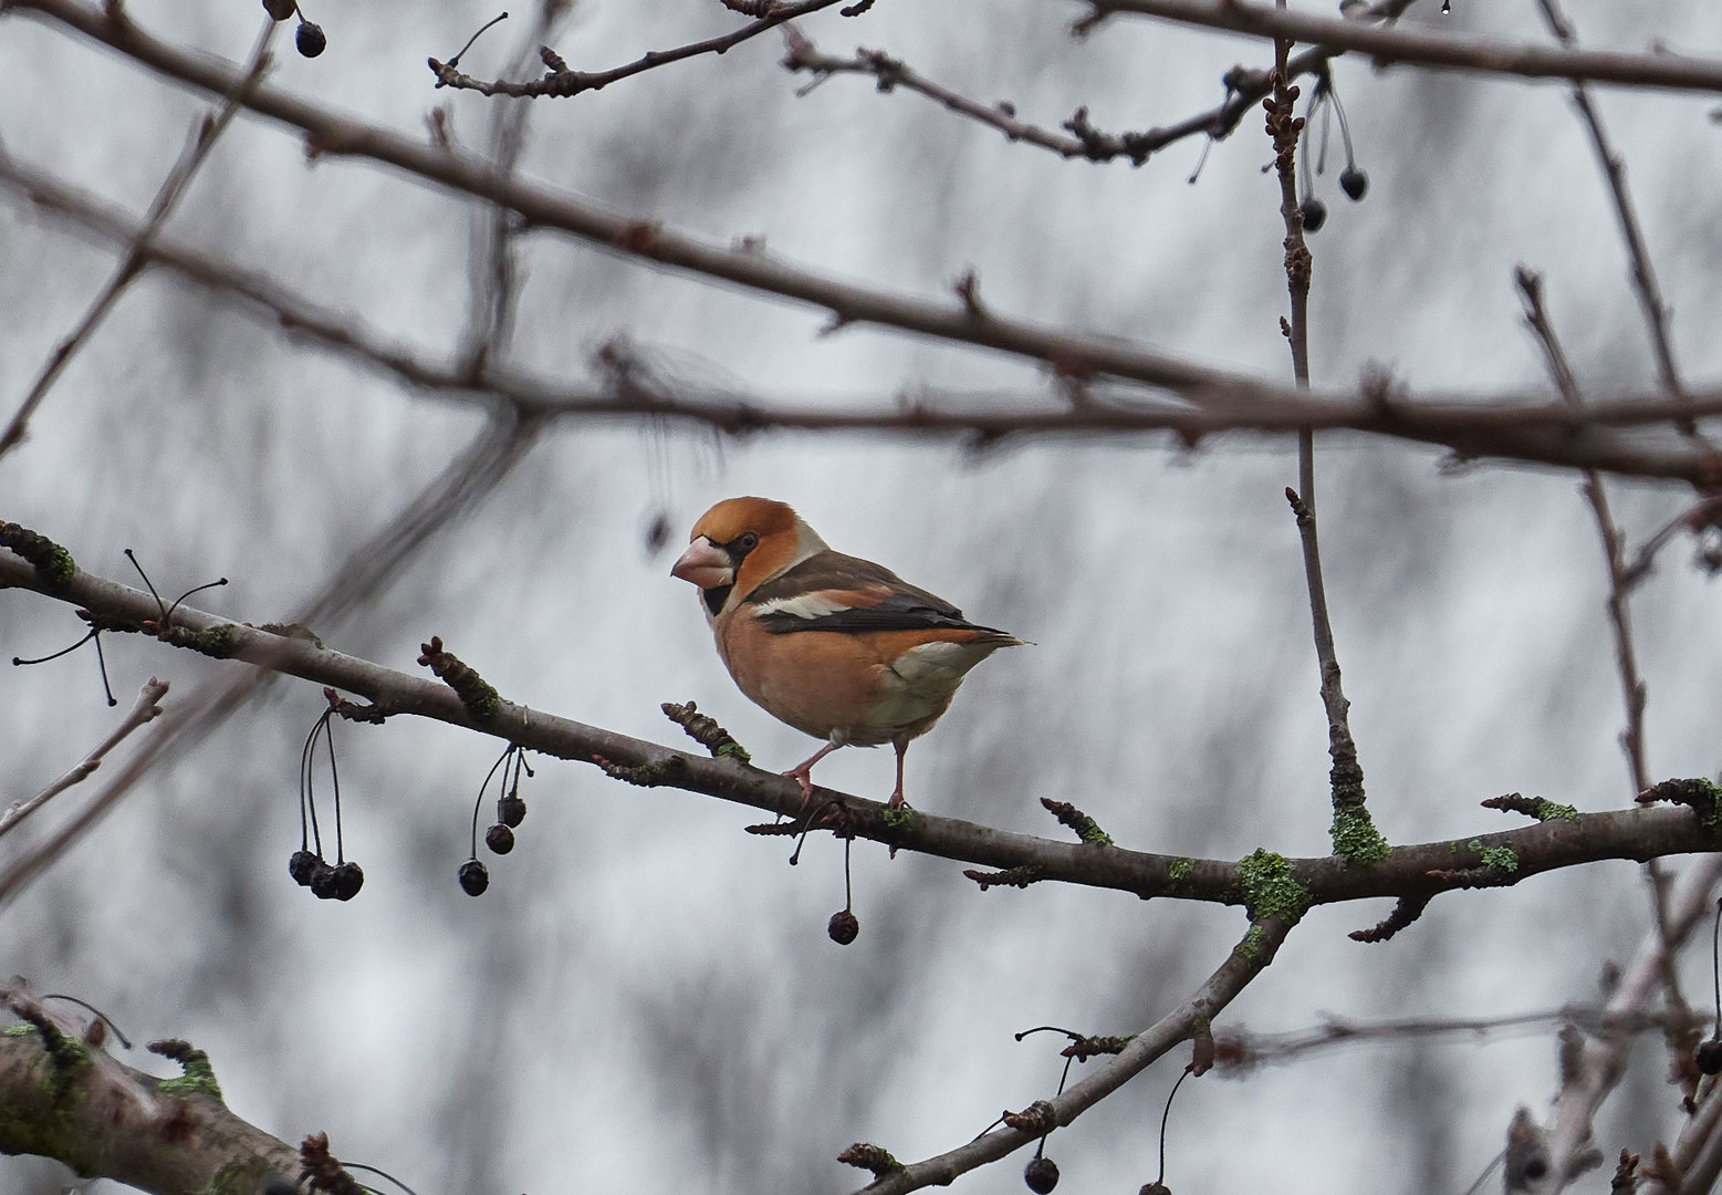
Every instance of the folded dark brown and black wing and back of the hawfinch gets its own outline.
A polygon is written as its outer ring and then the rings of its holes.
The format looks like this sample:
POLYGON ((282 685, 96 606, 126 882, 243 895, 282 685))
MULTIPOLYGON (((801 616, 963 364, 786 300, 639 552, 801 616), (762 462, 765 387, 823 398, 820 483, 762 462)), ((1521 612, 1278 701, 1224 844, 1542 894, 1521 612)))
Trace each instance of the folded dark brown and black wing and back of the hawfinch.
POLYGON ((985 630, 1004 634, 992 627, 976 627, 963 618, 963 611, 944 598, 904 582, 897 573, 858 556, 821 551, 809 556, 780 577, 747 594, 749 603, 792 601, 802 594, 828 592, 852 601, 846 610, 815 616, 773 610, 758 615, 766 630, 787 635, 797 630, 985 630))

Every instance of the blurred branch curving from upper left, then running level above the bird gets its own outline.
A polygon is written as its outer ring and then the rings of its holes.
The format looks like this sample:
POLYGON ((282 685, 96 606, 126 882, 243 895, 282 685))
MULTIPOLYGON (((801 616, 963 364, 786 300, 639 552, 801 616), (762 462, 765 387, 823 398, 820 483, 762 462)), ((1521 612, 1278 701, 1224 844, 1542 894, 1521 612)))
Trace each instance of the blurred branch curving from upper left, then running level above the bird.
MULTIPOLYGON (((95 236, 129 245, 138 226, 103 201, 71 188, 0 152, 0 179, 50 215, 95 236)), ((1216 432, 1288 432, 1350 429, 1395 439, 1440 444, 1465 456, 1498 456, 1548 465, 1593 467, 1641 477, 1674 477, 1694 484, 1722 479, 1722 460, 1703 446, 1658 446, 1614 432, 1614 427, 1662 424, 1682 415, 1722 413, 1722 389, 1691 394, 1691 403, 1655 394, 1626 394, 1598 401, 1583 412, 1534 394, 1445 394, 1412 401, 1366 384, 1355 394, 1298 394, 1235 374, 1211 372, 1200 391, 1209 406, 1173 403, 1095 401, 1045 406, 1035 396, 930 396, 873 399, 868 403, 790 398, 737 398, 699 393, 658 379, 649 368, 630 368, 608 386, 580 386, 494 362, 480 370, 449 365, 443 358, 393 343, 348 312, 324 306, 245 270, 214 253, 170 238, 150 241, 143 257, 152 265, 212 291, 239 298, 236 310, 303 336, 362 365, 387 372, 403 384, 437 398, 491 403, 505 398, 530 415, 591 420, 634 420, 642 415, 680 418, 727 432, 763 429, 892 432, 907 436, 964 434, 982 443, 1000 436, 1116 434, 1171 430, 1186 441, 1216 432)))

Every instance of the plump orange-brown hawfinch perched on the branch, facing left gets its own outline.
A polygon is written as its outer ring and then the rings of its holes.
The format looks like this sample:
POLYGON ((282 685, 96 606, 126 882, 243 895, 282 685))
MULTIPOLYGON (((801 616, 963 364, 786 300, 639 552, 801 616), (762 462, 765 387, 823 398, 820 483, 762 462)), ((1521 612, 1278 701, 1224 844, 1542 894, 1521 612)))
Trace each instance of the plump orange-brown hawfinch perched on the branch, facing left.
POLYGON ((897 749, 932 730, 963 675, 1023 641, 976 627, 949 601, 825 546, 784 503, 730 498, 708 510, 670 570, 699 587, 737 687, 771 716, 825 739, 785 771, 813 796, 813 765, 849 744, 897 749))

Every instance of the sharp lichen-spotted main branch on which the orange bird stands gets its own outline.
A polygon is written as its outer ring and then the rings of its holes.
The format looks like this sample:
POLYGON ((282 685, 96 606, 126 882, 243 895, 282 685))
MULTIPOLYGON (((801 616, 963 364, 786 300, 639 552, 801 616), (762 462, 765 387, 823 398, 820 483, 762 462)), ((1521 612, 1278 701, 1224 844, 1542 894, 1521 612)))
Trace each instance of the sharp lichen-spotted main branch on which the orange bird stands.
MULTIPOLYGON (((0 589, 7 587, 33 589, 119 623, 141 625, 160 613, 146 592, 81 570, 67 584, 55 585, 41 580, 29 563, 0 551, 0 589)), ((561 759, 601 759, 606 770, 620 770, 635 783, 682 789, 790 818, 804 811, 801 785, 773 771, 744 766, 728 756, 713 759, 675 751, 511 701, 498 701, 477 718, 453 689, 436 678, 329 651, 312 639, 272 634, 189 606, 176 611, 172 634, 188 646, 219 649, 222 658, 358 694, 391 716, 434 718, 561 759)), ((897 849, 999 870, 1033 866, 1044 880, 1118 889, 1143 899, 1236 904, 1257 913, 1279 907, 1302 913, 1314 904, 1433 895, 1481 883, 1507 887, 1543 871, 1600 859, 1643 861, 1722 849, 1722 832, 1701 823, 1693 809, 1638 808, 1552 816, 1538 825, 1467 840, 1395 847, 1371 868, 1355 868, 1338 856, 1281 859, 1262 851, 1242 861, 1192 859, 1037 839, 920 809, 904 825, 901 818, 887 821, 882 802, 833 789, 815 789, 815 794, 821 802, 842 806, 847 833, 897 849)))

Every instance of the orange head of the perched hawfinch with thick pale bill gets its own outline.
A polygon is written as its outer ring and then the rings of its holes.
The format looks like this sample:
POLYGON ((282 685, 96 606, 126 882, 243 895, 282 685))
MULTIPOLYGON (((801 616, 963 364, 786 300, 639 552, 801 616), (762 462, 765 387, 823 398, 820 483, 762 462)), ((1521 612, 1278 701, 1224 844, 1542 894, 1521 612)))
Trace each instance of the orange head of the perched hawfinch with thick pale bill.
POLYGON ((694 523, 687 551, 670 570, 699 587, 708 616, 758 585, 825 551, 825 541, 785 503, 727 498, 694 523))

